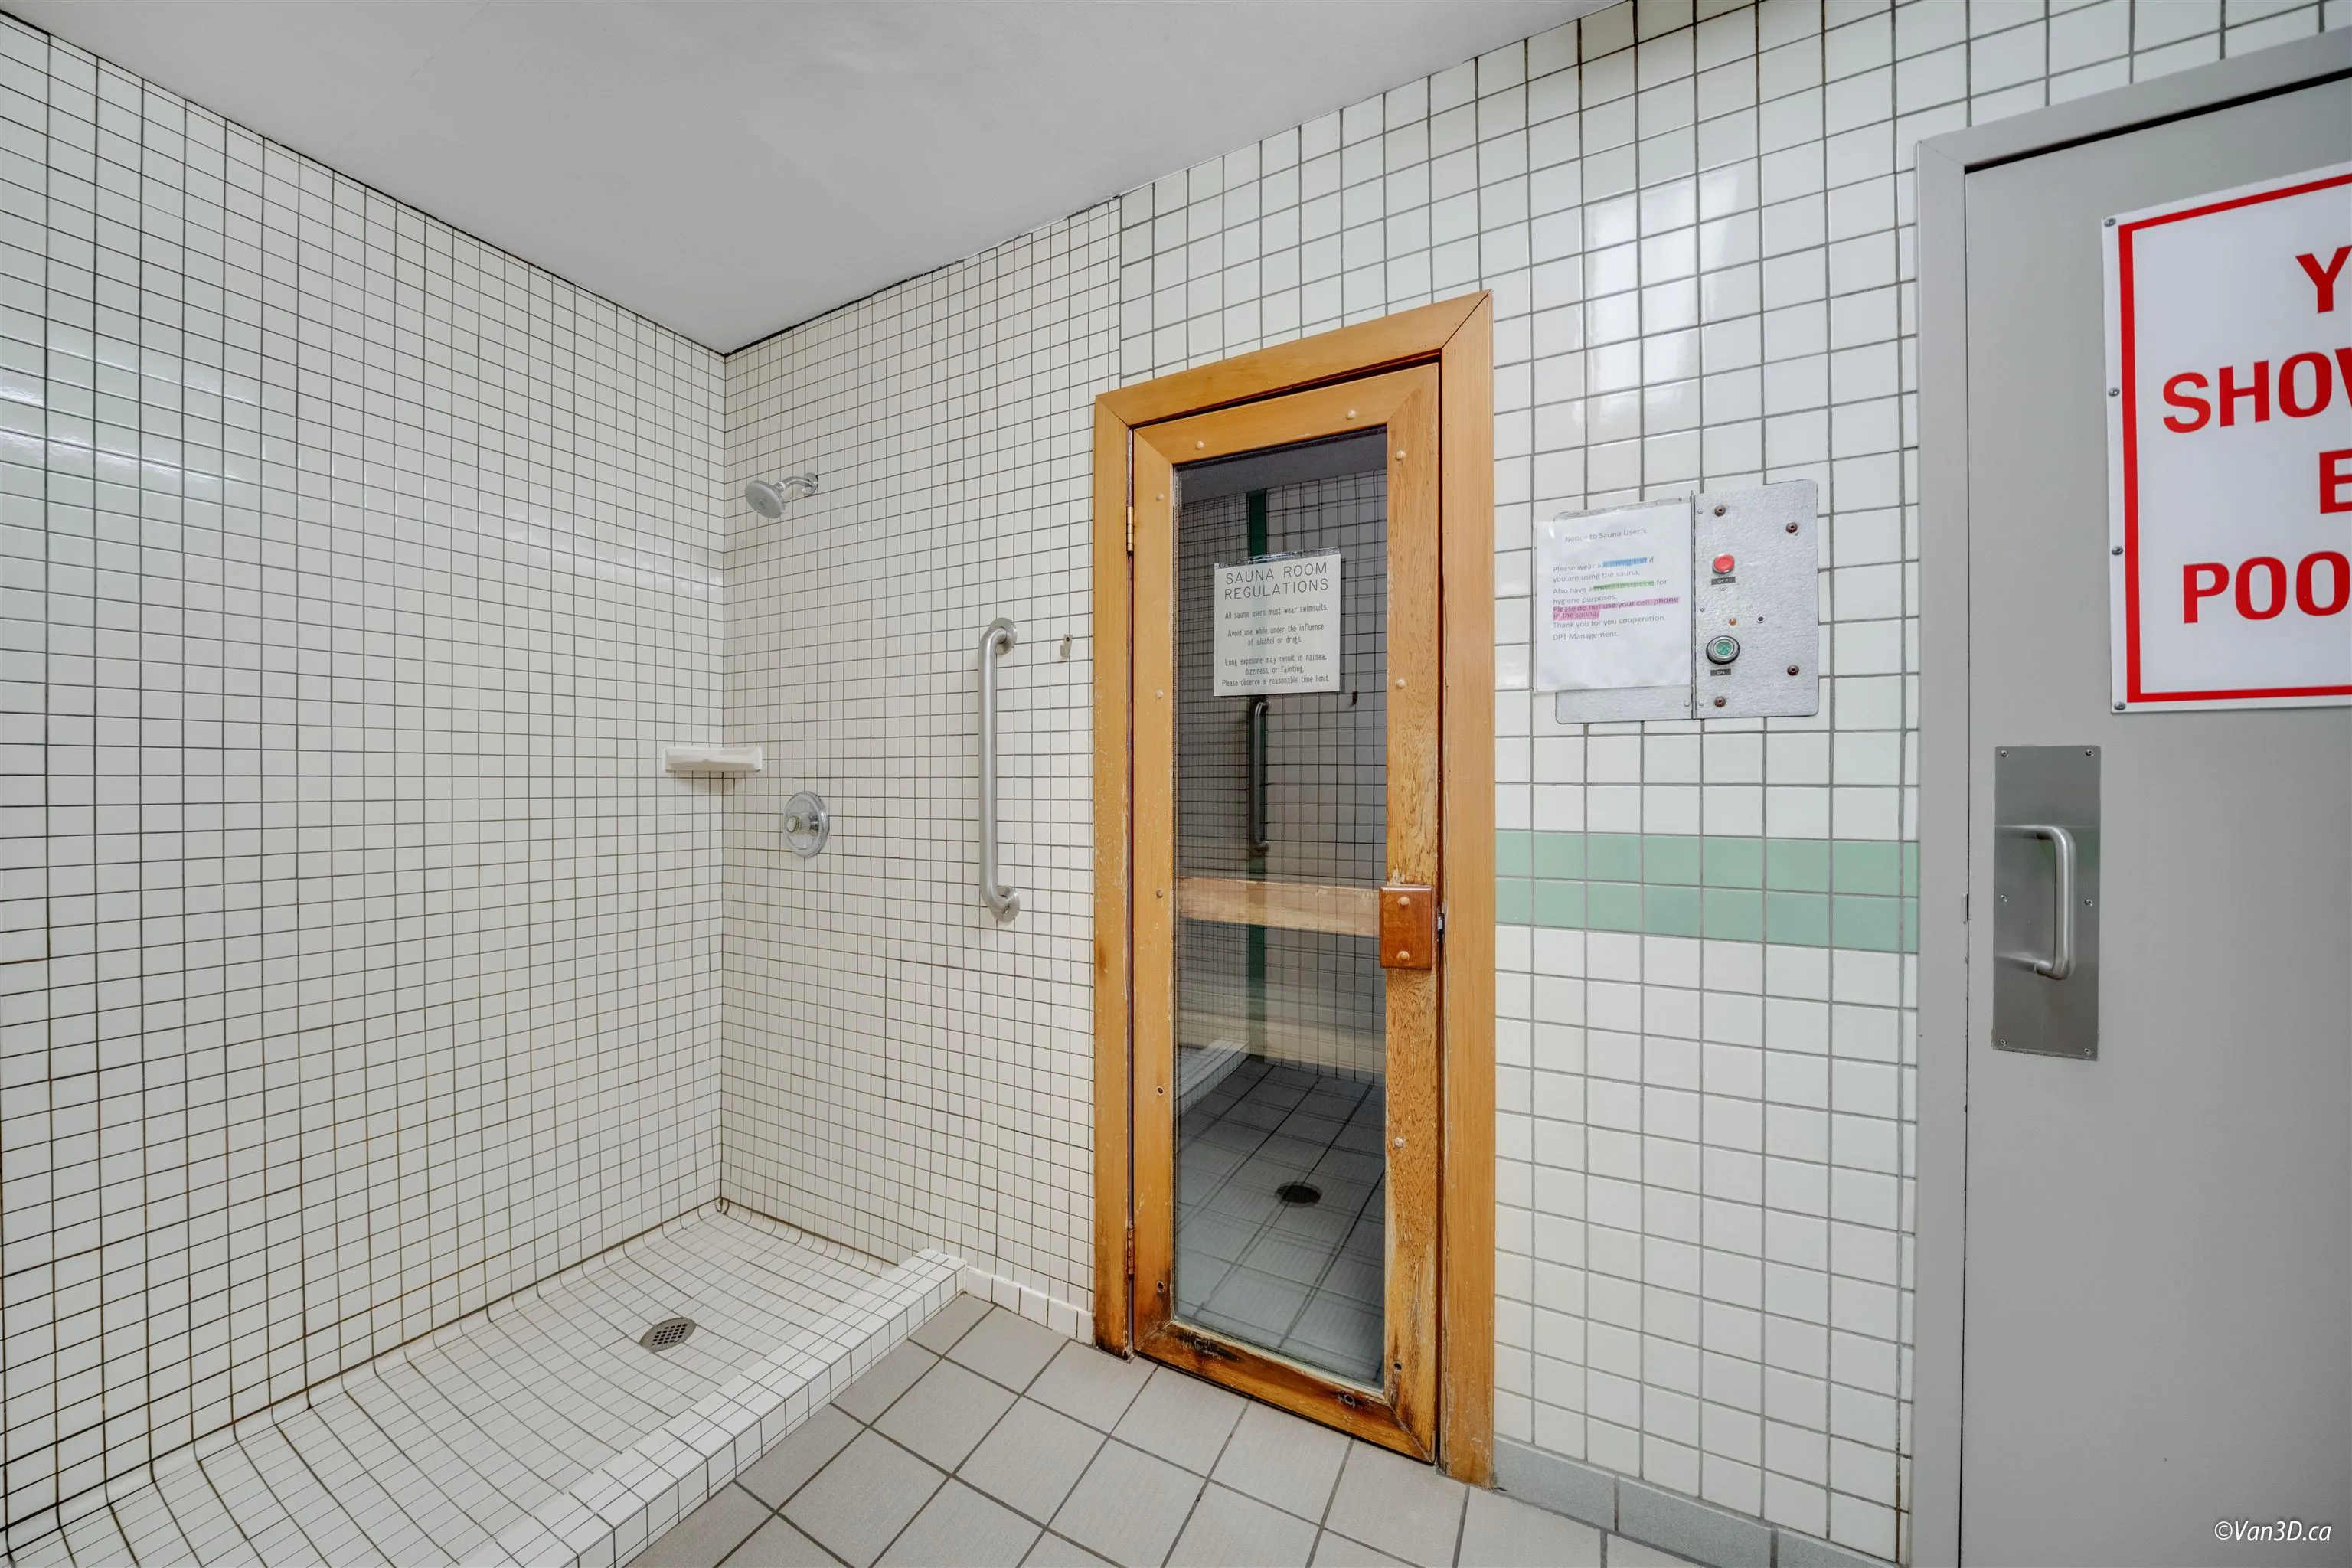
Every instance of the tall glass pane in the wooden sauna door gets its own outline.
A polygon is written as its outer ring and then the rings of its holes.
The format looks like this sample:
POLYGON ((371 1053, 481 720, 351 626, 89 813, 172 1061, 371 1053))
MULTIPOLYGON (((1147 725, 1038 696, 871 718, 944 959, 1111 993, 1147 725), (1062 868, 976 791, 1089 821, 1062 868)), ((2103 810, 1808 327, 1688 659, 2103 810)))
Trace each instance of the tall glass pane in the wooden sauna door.
POLYGON ((1192 463, 1178 501, 1176 1316, 1378 1387, 1385 971, 1362 917, 1388 870, 1385 437, 1192 463), (1221 602, 1334 562, 1336 672, 1310 628, 1294 668, 1249 675, 1237 651, 1275 623, 1244 614, 1221 644, 1221 602), (1277 689, 1218 693, 1251 682, 1277 689))

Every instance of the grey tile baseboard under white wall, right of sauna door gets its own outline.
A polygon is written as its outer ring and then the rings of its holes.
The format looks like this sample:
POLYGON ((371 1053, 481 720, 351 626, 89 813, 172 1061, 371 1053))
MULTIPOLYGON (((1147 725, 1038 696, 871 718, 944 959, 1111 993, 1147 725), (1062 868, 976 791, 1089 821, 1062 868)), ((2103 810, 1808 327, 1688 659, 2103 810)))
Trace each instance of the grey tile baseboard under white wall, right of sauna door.
POLYGON ((1891 1568, 1884 1559, 1510 1439, 1494 1443, 1494 1481, 1512 1497, 1710 1568, 1891 1568))

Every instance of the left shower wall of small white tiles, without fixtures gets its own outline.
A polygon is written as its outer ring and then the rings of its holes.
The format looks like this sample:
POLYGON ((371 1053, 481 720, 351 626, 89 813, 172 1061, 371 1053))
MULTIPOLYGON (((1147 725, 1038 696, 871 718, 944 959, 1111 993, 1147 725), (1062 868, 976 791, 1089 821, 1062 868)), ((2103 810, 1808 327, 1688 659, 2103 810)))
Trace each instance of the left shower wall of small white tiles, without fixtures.
POLYGON ((12 1535, 713 1197, 720 397, 0 19, 12 1535))

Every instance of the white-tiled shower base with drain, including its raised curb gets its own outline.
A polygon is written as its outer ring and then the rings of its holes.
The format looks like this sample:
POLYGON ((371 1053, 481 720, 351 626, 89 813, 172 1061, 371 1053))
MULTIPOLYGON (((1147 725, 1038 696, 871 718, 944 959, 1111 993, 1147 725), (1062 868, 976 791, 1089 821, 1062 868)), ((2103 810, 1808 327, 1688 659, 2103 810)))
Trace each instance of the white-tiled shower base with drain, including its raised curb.
POLYGON ((713 1204, 167 1455, 7 1561, 560 1563, 600 1540, 626 1556, 630 1528, 642 1542, 708 1486, 654 1497, 706 1462, 724 1486, 953 1291, 936 1253, 889 1269, 713 1204), (642 1349, 673 1314, 694 1335, 642 1349))

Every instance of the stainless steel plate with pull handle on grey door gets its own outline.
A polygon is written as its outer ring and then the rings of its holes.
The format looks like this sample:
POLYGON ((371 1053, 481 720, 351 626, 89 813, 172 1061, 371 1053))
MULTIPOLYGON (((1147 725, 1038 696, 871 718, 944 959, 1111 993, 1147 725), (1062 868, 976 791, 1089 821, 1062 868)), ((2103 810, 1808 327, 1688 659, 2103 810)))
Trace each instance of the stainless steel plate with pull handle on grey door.
POLYGON ((2098 748, 1994 748, 1994 1051, 2098 1060, 2098 748))

